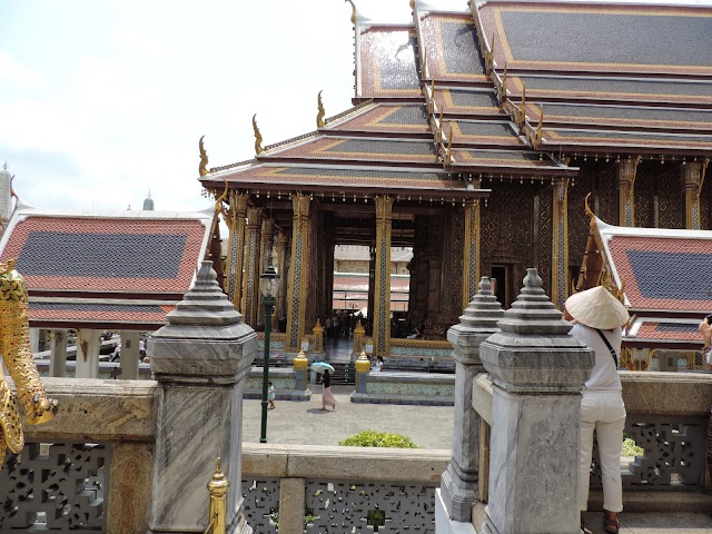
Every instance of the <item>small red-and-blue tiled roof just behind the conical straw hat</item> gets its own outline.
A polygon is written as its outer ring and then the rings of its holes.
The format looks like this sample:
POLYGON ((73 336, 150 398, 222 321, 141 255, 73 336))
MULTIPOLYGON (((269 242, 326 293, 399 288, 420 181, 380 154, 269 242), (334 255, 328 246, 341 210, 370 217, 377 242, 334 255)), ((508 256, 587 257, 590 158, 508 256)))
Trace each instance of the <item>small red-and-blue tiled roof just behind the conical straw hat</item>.
POLYGON ((712 230, 619 227, 589 215, 591 234, 576 290, 604 285, 621 296, 634 317, 629 346, 690 342, 691 325, 696 334, 712 312, 712 230))

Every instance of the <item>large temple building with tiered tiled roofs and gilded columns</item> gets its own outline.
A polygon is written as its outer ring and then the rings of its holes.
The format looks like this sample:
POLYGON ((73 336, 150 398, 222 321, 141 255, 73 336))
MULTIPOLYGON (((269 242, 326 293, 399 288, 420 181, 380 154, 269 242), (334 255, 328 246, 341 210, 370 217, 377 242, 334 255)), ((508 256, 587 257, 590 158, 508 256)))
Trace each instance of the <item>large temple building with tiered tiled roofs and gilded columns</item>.
POLYGON ((319 95, 316 130, 269 146, 254 119, 255 156, 238 164, 209 168, 200 141, 202 186, 228 189, 224 289, 249 325, 273 249, 295 352, 333 306, 335 246, 368 246, 374 353, 388 356, 392 247, 413 249, 407 313, 433 340, 481 276, 508 307, 536 267, 561 307, 589 194, 621 227, 710 228, 712 9, 411 9, 407 24, 353 9, 353 108, 327 119, 319 95))

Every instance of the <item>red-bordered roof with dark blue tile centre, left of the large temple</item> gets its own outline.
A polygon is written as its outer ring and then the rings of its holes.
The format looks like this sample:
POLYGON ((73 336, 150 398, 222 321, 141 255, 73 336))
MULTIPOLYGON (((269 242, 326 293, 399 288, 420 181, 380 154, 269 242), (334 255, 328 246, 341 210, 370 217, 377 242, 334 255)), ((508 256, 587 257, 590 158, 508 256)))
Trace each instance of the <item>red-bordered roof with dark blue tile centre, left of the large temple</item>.
POLYGON ((18 208, 0 240, 16 259, 32 327, 148 329, 190 288, 212 214, 18 208))

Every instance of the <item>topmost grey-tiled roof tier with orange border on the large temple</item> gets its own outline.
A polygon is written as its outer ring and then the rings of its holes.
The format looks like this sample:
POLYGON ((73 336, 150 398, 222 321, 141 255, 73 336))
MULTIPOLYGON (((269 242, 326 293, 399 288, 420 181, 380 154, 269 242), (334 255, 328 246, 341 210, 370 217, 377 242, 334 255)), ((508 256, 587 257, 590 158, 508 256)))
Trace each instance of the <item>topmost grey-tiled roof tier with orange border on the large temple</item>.
POLYGON ((510 69, 712 75, 712 10, 681 6, 487 2, 494 57, 510 69), (661 36, 675 36, 674 39, 661 36))

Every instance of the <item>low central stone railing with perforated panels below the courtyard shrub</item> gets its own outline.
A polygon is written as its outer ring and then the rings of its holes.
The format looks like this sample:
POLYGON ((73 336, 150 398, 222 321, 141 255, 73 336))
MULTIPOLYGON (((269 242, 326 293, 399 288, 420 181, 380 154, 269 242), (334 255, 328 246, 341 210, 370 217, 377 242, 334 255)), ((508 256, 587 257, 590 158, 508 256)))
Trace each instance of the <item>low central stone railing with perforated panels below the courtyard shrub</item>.
POLYGON ((243 444, 245 515, 260 534, 434 532, 449 451, 243 444))

